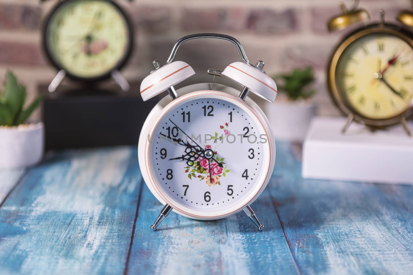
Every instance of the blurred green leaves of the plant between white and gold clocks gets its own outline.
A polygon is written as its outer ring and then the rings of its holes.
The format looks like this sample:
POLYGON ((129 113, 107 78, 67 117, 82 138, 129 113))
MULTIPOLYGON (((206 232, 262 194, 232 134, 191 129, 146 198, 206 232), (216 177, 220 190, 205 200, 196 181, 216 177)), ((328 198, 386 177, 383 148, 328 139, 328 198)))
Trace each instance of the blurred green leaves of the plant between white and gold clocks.
POLYGON ((275 75, 273 79, 283 80, 277 86, 289 99, 308 99, 315 93, 315 90, 309 89, 309 85, 315 80, 312 68, 294 69, 289 74, 275 75))

